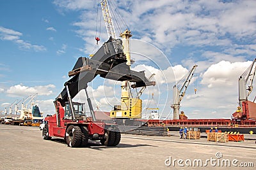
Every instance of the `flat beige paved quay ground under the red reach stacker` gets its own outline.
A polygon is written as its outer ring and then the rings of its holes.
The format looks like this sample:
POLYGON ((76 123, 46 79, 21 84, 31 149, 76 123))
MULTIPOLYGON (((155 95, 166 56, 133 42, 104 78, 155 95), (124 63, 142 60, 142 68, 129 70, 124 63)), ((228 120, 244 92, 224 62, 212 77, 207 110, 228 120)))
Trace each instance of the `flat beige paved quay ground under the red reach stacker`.
POLYGON ((256 166, 255 140, 215 143, 207 142, 206 138, 184 140, 177 136, 122 134, 120 144, 115 147, 92 141, 86 148, 69 148, 62 139, 43 140, 38 127, 0 125, 0 143, 0 169, 255 169, 256 166), (176 160, 173 166, 174 159, 180 159, 180 166, 176 160), (205 167, 197 166, 200 160, 205 167), (240 166, 248 162, 254 168, 240 166))

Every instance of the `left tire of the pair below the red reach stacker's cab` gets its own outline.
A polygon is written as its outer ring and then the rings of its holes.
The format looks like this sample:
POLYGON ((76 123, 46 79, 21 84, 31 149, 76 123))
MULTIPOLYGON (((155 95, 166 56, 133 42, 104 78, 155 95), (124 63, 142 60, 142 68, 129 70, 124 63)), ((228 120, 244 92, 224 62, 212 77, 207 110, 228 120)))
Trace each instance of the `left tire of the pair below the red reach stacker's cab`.
POLYGON ((65 141, 68 146, 77 148, 81 146, 82 132, 79 126, 70 125, 66 131, 65 141))

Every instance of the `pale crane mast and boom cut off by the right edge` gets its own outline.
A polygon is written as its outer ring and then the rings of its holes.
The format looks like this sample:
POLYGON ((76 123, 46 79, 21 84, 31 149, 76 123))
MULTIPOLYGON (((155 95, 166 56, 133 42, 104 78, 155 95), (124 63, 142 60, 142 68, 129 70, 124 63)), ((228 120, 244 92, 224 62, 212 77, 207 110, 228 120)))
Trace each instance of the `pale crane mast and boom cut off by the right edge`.
POLYGON ((248 101, 248 96, 250 96, 253 89, 253 78, 255 76, 256 59, 253 60, 252 64, 244 71, 244 73, 239 77, 239 106, 242 107, 243 101, 248 101), (248 89, 246 89, 246 84, 248 83, 250 78, 250 83, 248 85, 248 89), (248 92, 247 92, 248 90, 248 92))

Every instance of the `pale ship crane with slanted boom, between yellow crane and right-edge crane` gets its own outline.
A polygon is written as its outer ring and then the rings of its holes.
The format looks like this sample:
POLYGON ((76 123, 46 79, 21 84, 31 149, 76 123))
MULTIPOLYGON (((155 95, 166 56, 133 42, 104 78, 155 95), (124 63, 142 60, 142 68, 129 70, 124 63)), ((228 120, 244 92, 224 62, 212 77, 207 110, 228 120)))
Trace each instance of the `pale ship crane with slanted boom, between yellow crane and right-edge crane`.
MULTIPOLYGON (((188 85, 195 73, 197 65, 193 66, 188 73, 173 86, 173 104, 171 108, 173 108, 173 120, 179 119, 180 112, 180 101, 182 101, 183 97, 186 94, 186 90, 188 89, 188 85)), ((196 89, 195 89, 196 92, 196 89)))

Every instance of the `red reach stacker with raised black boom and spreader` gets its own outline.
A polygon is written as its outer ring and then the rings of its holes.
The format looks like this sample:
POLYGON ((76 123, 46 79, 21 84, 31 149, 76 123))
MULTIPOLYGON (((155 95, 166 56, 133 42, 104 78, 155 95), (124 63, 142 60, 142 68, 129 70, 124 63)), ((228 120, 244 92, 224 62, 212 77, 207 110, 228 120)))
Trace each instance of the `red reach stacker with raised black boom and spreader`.
POLYGON ((86 146, 88 139, 100 140, 106 146, 118 145, 121 134, 117 125, 96 120, 86 88, 97 75, 116 81, 128 80, 134 82, 136 87, 156 83, 149 81, 143 71, 132 71, 126 62, 122 40, 113 38, 109 38, 92 58, 79 57, 72 71, 68 73, 72 78, 65 82, 65 88, 54 101, 56 113, 45 117, 43 138, 63 138, 70 147, 86 146), (85 115, 84 103, 72 101, 81 90, 86 92, 90 117, 85 115))

